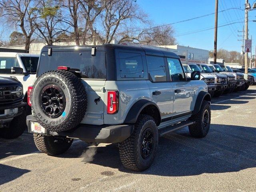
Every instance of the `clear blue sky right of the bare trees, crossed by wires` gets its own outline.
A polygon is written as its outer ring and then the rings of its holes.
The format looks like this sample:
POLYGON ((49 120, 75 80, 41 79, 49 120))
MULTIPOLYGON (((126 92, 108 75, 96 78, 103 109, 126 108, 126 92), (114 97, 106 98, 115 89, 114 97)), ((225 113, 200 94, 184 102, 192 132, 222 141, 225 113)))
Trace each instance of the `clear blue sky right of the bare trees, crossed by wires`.
MULTIPOLYGON (((254 0, 249 0, 249 2, 252 6, 254 0)), ((155 25, 169 24, 215 12, 215 0, 137 0, 137 3, 148 14, 155 25)), ((240 7, 244 9, 244 0, 219 0, 219 11, 240 7)), ((256 20, 256 10, 249 12, 249 20, 256 20)), ((217 46, 218 48, 240 52, 242 42, 238 41, 238 30, 242 31, 244 25, 244 11, 228 10, 219 13, 218 26, 233 22, 241 23, 218 28, 217 46)), ((255 50, 256 22, 249 22, 248 25, 250 30, 249 36, 254 35, 252 37, 252 50, 255 50)), ((174 24, 173 28, 175 30, 174 36, 176 36, 179 45, 213 50, 214 29, 188 35, 179 35, 205 28, 214 28, 214 14, 174 24)))

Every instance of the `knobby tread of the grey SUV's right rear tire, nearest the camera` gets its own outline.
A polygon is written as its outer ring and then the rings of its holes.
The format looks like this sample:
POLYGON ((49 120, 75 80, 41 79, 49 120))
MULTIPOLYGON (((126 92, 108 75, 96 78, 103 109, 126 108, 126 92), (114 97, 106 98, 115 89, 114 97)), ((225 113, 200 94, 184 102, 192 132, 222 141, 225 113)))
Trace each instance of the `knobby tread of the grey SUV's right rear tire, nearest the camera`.
POLYGON ((123 166, 127 169, 142 171, 137 164, 139 162, 139 158, 136 157, 134 150, 137 150, 138 137, 140 135, 142 126, 148 121, 152 121, 154 124, 156 124, 152 116, 140 114, 136 123, 134 124, 134 131, 132 132, 131 136, 119 144, 120 159, 123 166))

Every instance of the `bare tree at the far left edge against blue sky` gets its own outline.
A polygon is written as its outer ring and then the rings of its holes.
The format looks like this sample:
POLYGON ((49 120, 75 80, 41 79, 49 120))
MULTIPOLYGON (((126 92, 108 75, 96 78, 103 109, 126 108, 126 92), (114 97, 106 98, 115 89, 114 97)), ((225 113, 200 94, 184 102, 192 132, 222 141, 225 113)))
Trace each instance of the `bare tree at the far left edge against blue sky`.
POLYGON ((1 16, 6 19, 10 26, 19 26, 25 39, 25 49, 29 50, 31 37, 34 34, 35 26, 33 24, 34 14, 31 11, 32 0, 1 0, 1 16))

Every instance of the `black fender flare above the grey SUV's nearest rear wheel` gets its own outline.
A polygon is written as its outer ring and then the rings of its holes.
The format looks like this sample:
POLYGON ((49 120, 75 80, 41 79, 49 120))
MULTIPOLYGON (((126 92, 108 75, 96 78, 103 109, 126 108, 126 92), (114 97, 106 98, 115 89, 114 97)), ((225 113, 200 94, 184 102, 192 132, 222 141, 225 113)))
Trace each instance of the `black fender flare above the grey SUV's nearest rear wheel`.
POLYGON ((156 108, 158 109, 158 112, 160 114, 160 110, 154 102, 151 102, 146 99, 142 99, 133 104, 133 106, 130 108, 130 110, 124 120, 124 123, 135 123, 137 121, 137 118, 138 118, 140 112, 148 105, 156 106, 156 108))

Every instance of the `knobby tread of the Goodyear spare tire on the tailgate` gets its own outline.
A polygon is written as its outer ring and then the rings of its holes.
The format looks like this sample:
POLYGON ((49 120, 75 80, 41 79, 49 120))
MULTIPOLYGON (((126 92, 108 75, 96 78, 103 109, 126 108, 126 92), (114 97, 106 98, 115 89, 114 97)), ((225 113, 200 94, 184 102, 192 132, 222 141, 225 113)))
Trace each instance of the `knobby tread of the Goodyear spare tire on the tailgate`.
MULTIPOLYGON (((46 77, 46 76, 55 76, 56 78, 62 79, 68 89, 70 90, 71 94, 71 108, 66 120, 58 125, 58 126, 49 126, 44 124, 36 115, 34 111, 33 104, 32 104, 32 114, 36 117, 37 122, 43 126, 44 128, 50 131, 61 132, 65 130, 70 130, 76 127, 84 118, 87 108, 87 95, 82 84, 81 80, 75 76, 72 72, 68 72, 65 70, 52 70, 42 74, 40 77, 37 78, 36 82, 34 83, 34 87, 37 86, 38 82, 46 77)), ((38 96, 38 95, 37 95, 38 96)), ((31 98, 33 97, 33 92, 31 98)))

